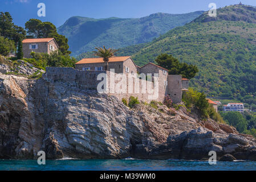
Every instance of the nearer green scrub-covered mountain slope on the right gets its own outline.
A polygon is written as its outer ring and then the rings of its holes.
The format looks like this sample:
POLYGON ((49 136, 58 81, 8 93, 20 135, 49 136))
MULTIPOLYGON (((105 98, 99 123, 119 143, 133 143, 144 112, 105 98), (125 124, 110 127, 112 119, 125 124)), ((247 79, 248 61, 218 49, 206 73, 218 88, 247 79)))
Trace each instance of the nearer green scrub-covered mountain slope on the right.
POLYGON ((217 10, 217 18, 204 13, 150 43, 119 51, 131 55, 138 65, 154 61, 161 53, 197 65, 200 72, 190 86, 208 97, 256 104, 255 7, 226 6, 217 10))

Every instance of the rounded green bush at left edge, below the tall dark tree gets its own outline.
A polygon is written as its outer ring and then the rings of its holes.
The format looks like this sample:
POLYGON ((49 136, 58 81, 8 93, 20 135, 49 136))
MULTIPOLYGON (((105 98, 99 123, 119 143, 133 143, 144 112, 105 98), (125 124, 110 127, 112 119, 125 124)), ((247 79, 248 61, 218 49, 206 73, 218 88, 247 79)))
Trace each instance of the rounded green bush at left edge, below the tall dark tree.
POLYGON ((16 47, 14 41, 0 36, 0 55, 8 56, 9 53, 15 51, 16 47))

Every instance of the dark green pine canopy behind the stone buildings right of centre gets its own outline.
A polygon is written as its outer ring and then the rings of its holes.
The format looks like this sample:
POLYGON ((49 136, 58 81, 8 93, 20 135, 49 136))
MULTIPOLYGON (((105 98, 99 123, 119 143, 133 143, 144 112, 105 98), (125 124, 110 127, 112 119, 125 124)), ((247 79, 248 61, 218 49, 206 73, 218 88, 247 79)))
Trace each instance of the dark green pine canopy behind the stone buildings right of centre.
POLYGON ((198 72, 196 65, 180 63, 178 59, 166 53, 159 55, 155 61, 160 67, 168 69, 170 75, 182 75, 191 79, 198 72))

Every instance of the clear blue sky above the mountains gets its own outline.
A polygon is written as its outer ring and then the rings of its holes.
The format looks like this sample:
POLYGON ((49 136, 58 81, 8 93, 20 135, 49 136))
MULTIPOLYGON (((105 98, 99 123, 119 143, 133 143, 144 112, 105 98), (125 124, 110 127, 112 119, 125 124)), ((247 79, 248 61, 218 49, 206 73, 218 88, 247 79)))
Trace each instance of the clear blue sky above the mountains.
MULTIPOLYGON (((239 0, 0 0, 0 11, 9 11, 14 23, 22 27, 30 18, 49 21, 59 27, 71 16, 140 18, 159 12, 179 14, 209 10, 212 2, 218 8, 237 4, 239 0), (46 5, 46 17, 38 17, 38 3, 46 5)), ((256 6, 255 0, 242 3, 256 6)))

